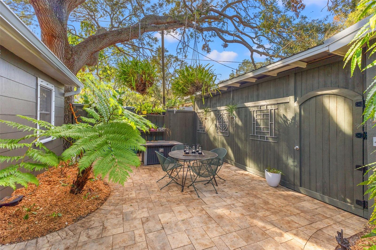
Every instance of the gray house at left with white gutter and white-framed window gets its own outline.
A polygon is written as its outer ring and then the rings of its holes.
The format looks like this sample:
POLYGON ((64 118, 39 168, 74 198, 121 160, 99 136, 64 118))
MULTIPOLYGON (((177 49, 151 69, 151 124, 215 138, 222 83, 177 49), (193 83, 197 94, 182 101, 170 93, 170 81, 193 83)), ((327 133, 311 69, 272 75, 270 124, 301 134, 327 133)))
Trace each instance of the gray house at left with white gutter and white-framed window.
MULTIPOLYGON (((16 115, 38 118, 38 92, 41 86, 45 86, 53 95, 50 117, 55 125, 62 125, 64 84, 75 86, 78 91, 83 84, 5 3, 0 2, 0 8, 0 119, 27 124, 26 120, 16 115)), ((0 123, 1 139, 16 139, 24 135, 0 123)), ((62 140, 46 139, 45 145, 57 154, 62 152, 62 140)), ((0 154, 20 155, 20 151, 0 149, 0 154)), ((1 163, 0 169, 8 165, 1 163)), ((0 199, 12 191, 12 188, 0 187, 0 199)))

